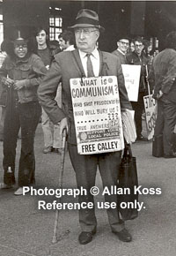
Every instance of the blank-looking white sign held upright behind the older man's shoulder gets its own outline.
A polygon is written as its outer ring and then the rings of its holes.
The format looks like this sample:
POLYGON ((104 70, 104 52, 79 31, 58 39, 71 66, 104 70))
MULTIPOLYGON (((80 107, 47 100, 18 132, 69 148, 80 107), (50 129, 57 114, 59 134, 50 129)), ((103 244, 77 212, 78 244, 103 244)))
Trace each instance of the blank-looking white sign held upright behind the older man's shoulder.
POLYGON ((121 67, 125 79, 128 99, 130 102, 137 102, 141 65, 122 64, 121 67))

